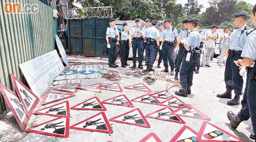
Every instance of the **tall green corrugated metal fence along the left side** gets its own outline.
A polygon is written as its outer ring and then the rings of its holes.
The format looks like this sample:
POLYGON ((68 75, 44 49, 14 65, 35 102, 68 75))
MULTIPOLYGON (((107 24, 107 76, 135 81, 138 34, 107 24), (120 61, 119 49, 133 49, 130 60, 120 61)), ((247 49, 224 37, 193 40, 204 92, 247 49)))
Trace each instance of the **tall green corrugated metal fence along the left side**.
MULTIPOLYGON (((19 64, 55 49, 56 24, 52 8, 38 0, 0 1, 0 82, 14 90, 9 73, 22 80, 19 64), (5 3, 36 4, 36 14, 6 14, 5 3)), ((0 114, 5 103, 0 95, 0 114)))

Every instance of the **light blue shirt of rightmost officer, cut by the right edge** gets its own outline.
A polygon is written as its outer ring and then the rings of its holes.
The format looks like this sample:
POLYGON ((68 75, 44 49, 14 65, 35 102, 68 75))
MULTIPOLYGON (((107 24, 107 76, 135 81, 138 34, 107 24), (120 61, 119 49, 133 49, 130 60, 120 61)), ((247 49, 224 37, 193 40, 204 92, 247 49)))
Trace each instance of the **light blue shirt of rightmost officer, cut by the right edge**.
MULTIPOLYGON (((256 60, 256 30, 247 36, 241 57, 247 57, 249 59, 253 59, 254 61, 256 60)), ((254 65, 251 67, 253 66, 254 65)))

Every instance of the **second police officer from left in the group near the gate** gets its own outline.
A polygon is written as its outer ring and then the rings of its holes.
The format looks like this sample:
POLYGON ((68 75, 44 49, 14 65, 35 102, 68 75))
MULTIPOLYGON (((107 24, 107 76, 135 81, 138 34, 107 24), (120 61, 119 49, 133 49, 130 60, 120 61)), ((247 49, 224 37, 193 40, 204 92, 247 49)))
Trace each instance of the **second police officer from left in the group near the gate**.
POLYGON ((126 68, 128 56, 129 56, 129 49, 131 46, 131 37, 130 37, 130 32, 128 30, 128 24, 123 23, 123 31, 121 32, 121 42, 122 42, 122 47, 121 47, 121 62, 122 62, 122 67, 126 68))

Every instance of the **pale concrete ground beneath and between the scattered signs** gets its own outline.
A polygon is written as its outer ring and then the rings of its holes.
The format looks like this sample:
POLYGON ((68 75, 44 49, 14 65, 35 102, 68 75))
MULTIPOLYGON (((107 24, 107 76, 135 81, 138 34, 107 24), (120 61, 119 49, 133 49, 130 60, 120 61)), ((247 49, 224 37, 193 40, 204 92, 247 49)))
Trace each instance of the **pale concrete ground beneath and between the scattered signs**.
MULTIPOLYGON (((88 57, 69 57, 69 62, 82 62, 86 64, 103 64, 106 69, 108 68, 108 60, 100 59, 100 58, 88 58, 88 57)), ((249 135, 251 133, 251 122, 250 120, 246 122, 242 122, 237 130, 233 130, 230 128, 229 120, 226 117, 226 112, 229 110, 237 113, 241 105, 239 106, 228 106, 226 102, 228 99, 219 99, 216 97, 217 93, 223 93, 225 91, 225 82, 224 82, 224 67, 220 67, 217 65, 217 59, 214 59, 210 63, 212 67, 210 68, 201 68, 200 74, 194 74, 193 86, 192 86, 192 94, 187 98, 179 97, 181 101, 191 104, 196 107, 197 110, 200 110, 205 115, 210 117, 210 123, 224 129, 240 137, 243 141, 251 141, 249 139, 249 135)), ((131 64, 131 61, 129 61, 131 64)), ((118 65, 121 66, 119 59, 118 65)), ((163 64, 162 68, 163 69, 163 64)), ((145 68, 145 67, 144 67, 145 68)), ((156 69, 156 64, 154 66, 156 69)), ((121 81, 109 81, 105 78, 96 79, 96 80, 83 80, 82 85, 90 85, 93 83, 102 83, 103 85, 107 85, 109 83, 120 83, 123 92, 118 93, 114 91, 106 91, 102 90, 102 93, 93 93, 91 91, 79 90, 76 93, 76 97, 68 98, 63 101, 68 100, 69 106, 74 106, 79 102, 84 101, 85 99, 89 99, 91 97, 97 96, 101 101, 115 97, 120 94, 125 94, 127 98, 130 100, 136 97, 139 97, 143 94, 146 94, 143 91, 129 90, 124 89, 125 86, 133 85, 135 83, 142 83, 143 76, 132 76, 128 77, 125 75, 126 72, 129 71, 128 68, 116 68, 111 70, 116 70, 121 74, 121 81)), ((174 76, 172 76, 174 78, 174 76)), ((157 80, 152 85, 147 85, 154 92, 163 91, 166 89, 166 82, 162 80, 157 80)), ((169 90, 171 94, 174 94, 174 91, 178 90, 177 88, 172 88, 169 90)), ((43 96, 41 97, 43 98, 43 96)), ((42 100, 42 99, 41 99, 42 100)), ((47 106, 51 106, 53 104, 59 103, 61 101, 50 103, 49 105, 40 106, 36 108, 44 108, 47 106)), ((134 108, 140 108, 144 115, 150 114, 163 106, 158 105, 149 105, 145 103, 137 103, 132 102, 135 106, 134 108)), ((114 116, 123 114, 124 112, 133 110, 134 108, 130 107, 122 107, 115 105, 104 105, 107 109, 105 114, 108 119, 113 118, 114 116)), ((70 118, 70 126, 89 118, 94 114, 97 114, 100 111, 84 111, 84 110, 71 110, 71 118, 70 118)), ((199 132, 201 124, 204 120, 193 119, 193 118, 185 118, 181 117, 185 121, 185 125, 191 127, 196 132, 199 132)), ((47 120, 51 120, 51 116, 45 115, 32 115, 30 122, 28 123, 27 128, 31 126, 35 126, 36 124, 40 124, 46 122, 47 120)), ((162 141, 170 141, 172 137, 180 130, 184 124, 178 124, 173 122, 167 122, 163 120, 151 119, 147 118, 150 123, 150 128, 143 128, 138 126, 130 126, 127 124, 110 122, 110 125, 113 128, 113 133, 109 135, 108 133, 100 133, 100 132, 88 132, 88 131, 79 131, 79 130, 69 130, 69 137, 67 139, 46 135, 39 135, 36 133, 27 133, 22 132, 18 128, 18 124, 15 122, 14 117, 9 113, 9 115, 2 115, 0 118, 0 141, 139 141, 148 133, 154 132, 162 141)))

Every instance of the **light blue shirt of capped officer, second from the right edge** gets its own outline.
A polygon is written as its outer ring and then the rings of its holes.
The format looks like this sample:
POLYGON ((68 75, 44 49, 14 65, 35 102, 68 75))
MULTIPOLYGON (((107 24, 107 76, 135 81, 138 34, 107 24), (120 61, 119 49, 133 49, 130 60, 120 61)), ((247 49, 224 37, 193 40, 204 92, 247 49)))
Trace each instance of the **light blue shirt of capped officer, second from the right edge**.
POLYGON ((247 31, 245 30, 245 27, 246 27, 246 24, 243 27, 237 28, 236 30, 233 31, 230 39, 230 44, 229 44, 230 50, 242 51, 243 47, 245 47, 246 31, 247 31), (243 31, 243 34, 241 34, 242 31, 243 31))

